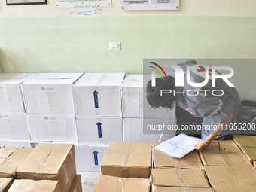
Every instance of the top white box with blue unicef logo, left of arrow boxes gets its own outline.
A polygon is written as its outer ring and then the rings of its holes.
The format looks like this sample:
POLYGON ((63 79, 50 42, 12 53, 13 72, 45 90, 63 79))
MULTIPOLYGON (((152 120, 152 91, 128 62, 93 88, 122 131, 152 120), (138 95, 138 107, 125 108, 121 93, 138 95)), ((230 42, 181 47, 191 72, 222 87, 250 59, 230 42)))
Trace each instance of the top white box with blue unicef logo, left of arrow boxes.
POLYGON ((36 78, 25 81, 21 87, 27 113, 74 114, 72 84, 81 75, 82 73, 38 74, 35 76, 36 78))

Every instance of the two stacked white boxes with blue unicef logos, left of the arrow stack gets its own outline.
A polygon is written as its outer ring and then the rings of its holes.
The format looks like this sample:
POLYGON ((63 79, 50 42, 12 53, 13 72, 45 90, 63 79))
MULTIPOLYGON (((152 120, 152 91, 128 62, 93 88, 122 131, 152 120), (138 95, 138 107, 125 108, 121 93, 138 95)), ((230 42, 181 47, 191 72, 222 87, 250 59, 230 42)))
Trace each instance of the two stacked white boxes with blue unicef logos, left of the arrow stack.
POLYGON ((21 84, 32 143, 76 142, 72 84, 83 73, 39 73, 21 84))

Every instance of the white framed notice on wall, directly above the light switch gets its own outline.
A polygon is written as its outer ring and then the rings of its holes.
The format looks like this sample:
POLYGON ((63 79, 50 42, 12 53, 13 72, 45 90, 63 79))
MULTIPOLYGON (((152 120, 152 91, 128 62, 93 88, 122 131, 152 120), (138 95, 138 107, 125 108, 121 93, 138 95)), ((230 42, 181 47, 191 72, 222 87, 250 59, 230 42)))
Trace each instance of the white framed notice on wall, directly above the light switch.
POLYGON ((120 0, 122 10, 179 10, 179 0, 120 0))

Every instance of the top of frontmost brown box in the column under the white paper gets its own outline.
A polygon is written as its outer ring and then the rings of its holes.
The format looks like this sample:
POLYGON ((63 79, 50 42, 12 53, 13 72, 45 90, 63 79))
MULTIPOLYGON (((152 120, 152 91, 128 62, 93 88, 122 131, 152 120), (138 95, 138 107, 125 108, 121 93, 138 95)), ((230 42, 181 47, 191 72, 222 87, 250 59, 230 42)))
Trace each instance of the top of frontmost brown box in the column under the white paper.
POLYGON ((151 169, 151 179, 162 187, 209 187, 203 169, 151 169))

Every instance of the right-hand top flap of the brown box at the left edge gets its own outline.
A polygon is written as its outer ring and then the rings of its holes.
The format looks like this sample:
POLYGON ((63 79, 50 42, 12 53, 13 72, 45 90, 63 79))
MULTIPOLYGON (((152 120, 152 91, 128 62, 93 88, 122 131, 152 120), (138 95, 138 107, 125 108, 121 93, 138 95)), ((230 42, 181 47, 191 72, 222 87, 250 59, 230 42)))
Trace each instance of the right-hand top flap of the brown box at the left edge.
MULTIPOLYGON (((8 147, 5 147, 8 148, 8 147)), ((28 155, 33 151, 32 148, 17 148, 13 153, 11 153, 1 164, 0 172, 10 175, 15 175, 15 171, 23 163, 23 161, 28 157, 28 155)))

